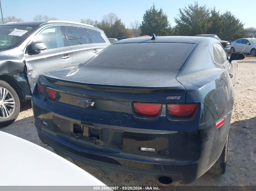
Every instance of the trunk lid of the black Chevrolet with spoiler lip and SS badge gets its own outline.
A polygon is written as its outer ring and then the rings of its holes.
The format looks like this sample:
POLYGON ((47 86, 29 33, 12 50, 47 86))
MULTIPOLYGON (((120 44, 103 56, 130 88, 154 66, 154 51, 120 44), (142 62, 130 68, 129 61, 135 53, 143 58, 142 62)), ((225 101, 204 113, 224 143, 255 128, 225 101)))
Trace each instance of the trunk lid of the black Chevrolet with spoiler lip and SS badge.
POLYGON ((178 71, 81 66, 41 76, 52 83, 49 85, 57 92, 58 101, 78 106, 78 99, 83 98, 104 103, 185 103, 186 90, 176 80, 177 75, 178 71))

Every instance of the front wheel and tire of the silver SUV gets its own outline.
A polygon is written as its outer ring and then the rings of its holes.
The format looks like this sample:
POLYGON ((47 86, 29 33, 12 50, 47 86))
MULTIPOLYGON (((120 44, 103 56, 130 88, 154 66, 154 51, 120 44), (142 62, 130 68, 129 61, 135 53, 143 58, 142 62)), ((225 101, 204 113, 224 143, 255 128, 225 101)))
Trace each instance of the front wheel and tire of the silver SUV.
MULTIPOLYGON (((0 80, 0 127, 5 127, 5 126, 8 126, 10 124, 12 124, 15 119, 17 119, 18 115, 19 115, 19 112, 20 112, 20 100, 19 100, 19 97, 18 97, 18 94, 16 93, 16 91, 6 82, 6 81, 2 81, 0 80), (7 114, 3 114, 1 110, 1 108, 3 108, 3 102, 1 100, 2 99, 2 92, 3 91, 3 88, 5 88, 7 91, 8 91, 8 94, 7 94, 7 97, 10 97, 12 96, 13 99, 14 99, 14 109, 11 109, 12 112, 10 112, 9 116, 7 116, 7 114), (4 116, 5 115, 5 116, 4 116)), ((8 105, 9 103, 7 103, 8 105)), ((10 104, 11 105, 11 104, 10 104)), ((8 106, 6 106, 8 107, 8 106)), ((10 107, 8 107, 10 108, 10 107)))

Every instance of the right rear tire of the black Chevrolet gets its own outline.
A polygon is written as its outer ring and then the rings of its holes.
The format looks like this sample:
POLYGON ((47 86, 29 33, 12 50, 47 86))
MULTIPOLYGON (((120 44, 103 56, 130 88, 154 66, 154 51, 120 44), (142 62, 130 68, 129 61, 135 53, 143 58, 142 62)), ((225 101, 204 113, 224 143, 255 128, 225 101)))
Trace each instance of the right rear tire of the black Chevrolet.
POLYGON ((220 157, 208 171, 214 174, 224 174, 226 171, 227 153, 228 153, 228 137, 220 157))

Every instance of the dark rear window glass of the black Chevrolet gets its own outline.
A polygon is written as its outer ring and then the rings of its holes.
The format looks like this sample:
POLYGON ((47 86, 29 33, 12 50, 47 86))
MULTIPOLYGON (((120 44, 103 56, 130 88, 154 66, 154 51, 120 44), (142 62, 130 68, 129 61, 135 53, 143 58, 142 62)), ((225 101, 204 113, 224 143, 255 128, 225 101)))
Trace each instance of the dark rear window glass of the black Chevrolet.
POLYGON ((189 43, 120 43, 99 53, 87 66, 178 71, 196 45, 189 43))

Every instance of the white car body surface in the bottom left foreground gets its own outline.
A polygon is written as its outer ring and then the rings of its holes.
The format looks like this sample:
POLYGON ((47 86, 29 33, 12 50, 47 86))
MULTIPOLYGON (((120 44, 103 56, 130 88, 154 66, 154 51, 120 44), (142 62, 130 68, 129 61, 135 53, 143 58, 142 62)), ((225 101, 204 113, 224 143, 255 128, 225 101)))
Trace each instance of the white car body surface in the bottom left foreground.
POLYGON ((57 154, 2 131, 0 153, 0 186, 106 186, 57 154))

